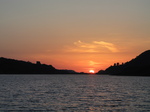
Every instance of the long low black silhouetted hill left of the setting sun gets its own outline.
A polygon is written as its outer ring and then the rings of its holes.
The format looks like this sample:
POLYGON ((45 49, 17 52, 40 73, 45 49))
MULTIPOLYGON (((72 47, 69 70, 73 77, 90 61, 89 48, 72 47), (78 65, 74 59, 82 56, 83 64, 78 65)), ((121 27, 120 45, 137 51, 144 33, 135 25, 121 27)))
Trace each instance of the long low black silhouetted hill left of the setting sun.
POLYGON ((0 58, 0 74, 75 74, 72 70, 58 70, 52 65, 0 58))

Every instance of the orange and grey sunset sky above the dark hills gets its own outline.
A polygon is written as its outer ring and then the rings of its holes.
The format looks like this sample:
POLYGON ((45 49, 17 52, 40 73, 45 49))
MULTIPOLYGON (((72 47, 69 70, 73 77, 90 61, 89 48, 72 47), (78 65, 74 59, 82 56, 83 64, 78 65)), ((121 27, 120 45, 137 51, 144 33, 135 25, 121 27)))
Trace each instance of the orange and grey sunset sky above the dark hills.
POLYGON ((150 0, 0 0, 0 57, 95 72, 150 49, 150 0))

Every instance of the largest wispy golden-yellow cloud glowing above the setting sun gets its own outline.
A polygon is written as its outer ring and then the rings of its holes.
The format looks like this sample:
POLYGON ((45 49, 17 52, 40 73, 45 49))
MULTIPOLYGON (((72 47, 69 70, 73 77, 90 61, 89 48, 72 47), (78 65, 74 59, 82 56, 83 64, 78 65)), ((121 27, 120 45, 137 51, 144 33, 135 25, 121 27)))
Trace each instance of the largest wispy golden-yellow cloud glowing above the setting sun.
POLYGON ((104 41, 93 41, 91 43, 85 43, 79 40, 73 44, 73 46, 66 46, 65 51, 75 53, 119 52, 113 43, 104 41))

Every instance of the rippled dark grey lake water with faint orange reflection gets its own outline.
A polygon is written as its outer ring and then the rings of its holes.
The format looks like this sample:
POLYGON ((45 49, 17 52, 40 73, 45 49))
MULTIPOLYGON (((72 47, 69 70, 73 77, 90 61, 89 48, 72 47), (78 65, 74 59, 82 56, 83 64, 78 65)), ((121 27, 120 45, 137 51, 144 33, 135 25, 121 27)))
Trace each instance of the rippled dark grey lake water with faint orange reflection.
POLYGON ((0 111, 150 111, 150 77, 0 75, 0 111))

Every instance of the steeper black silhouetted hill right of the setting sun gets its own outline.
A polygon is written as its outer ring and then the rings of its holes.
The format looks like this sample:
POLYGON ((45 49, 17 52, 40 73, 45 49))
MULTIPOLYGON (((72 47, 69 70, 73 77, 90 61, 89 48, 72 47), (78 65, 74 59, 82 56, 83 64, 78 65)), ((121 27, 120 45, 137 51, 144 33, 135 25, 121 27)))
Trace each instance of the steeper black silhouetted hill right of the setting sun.
POLYGON ((150 50, 147 50, 125 64, 115 63, 97 74, 150 76, 150 50))

